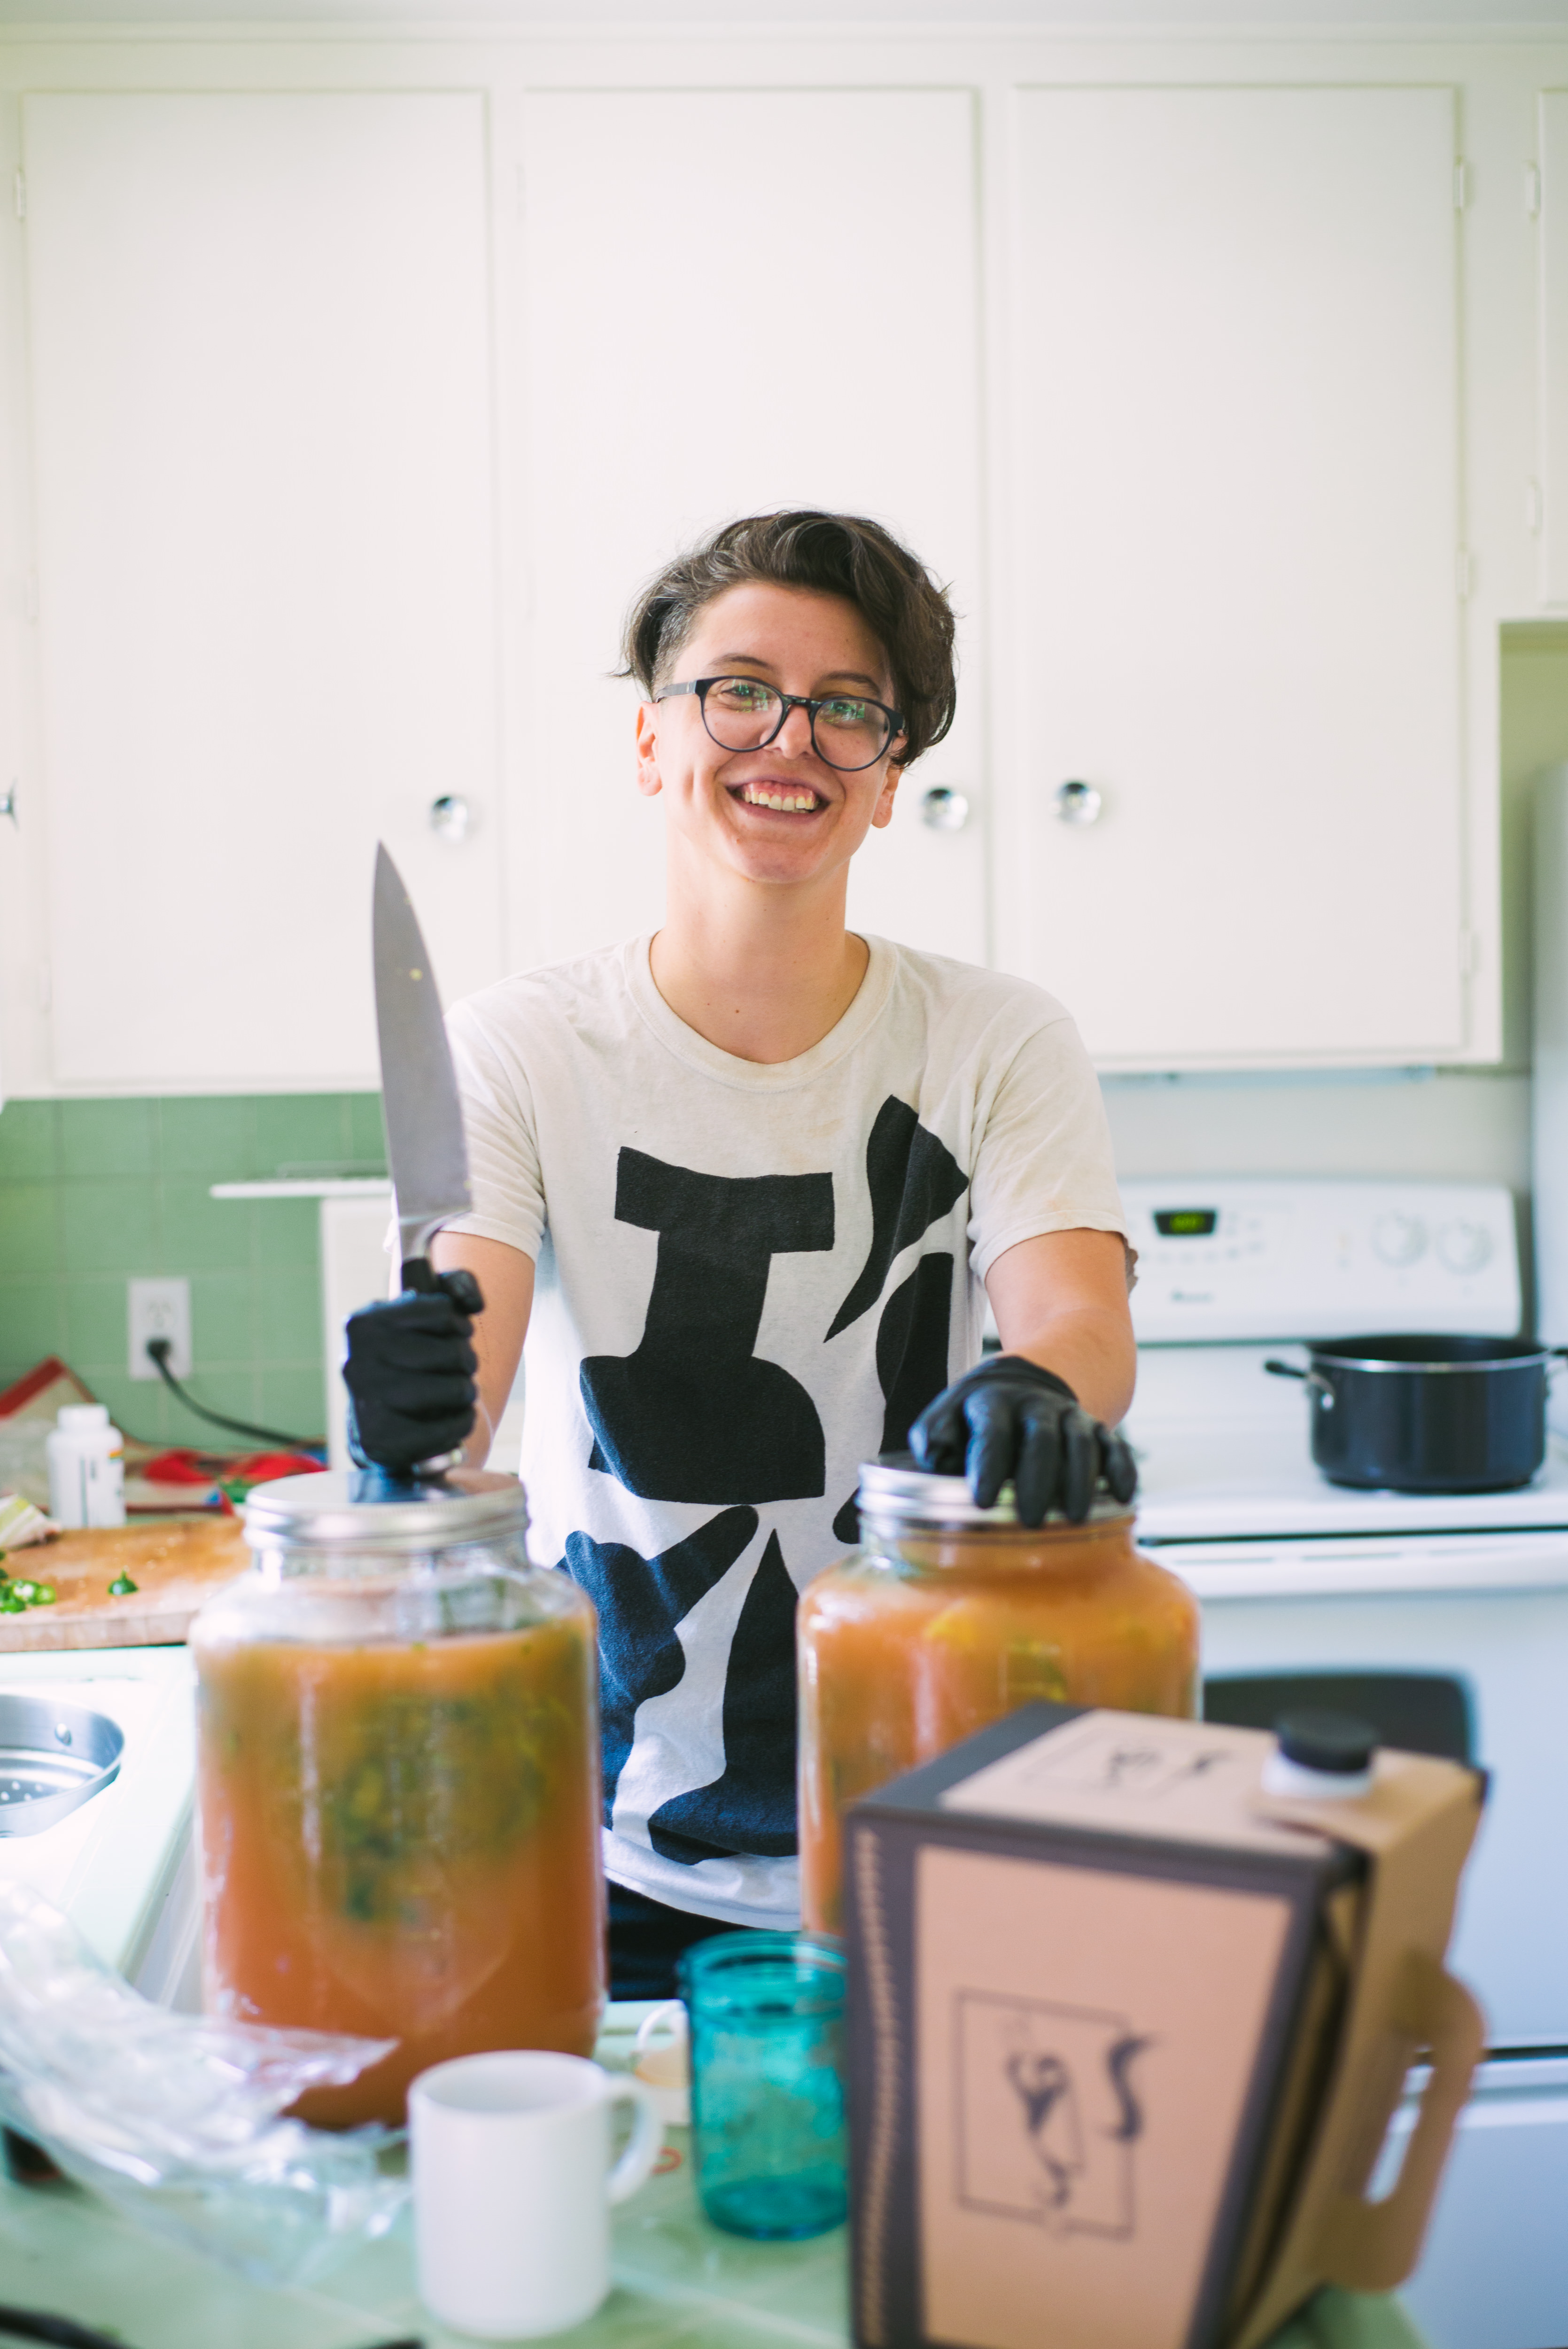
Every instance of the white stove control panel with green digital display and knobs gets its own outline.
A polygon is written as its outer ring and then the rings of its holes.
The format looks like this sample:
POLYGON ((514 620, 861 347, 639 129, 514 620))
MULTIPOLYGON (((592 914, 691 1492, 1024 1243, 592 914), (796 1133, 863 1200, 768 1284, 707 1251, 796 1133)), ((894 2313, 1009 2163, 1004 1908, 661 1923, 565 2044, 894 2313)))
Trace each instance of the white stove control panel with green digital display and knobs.
POLYGON ((1176 1174, 1122 1184, 1138 1344, 1451 1330, 1514 1337, 1502 1184, 1176 1174))

